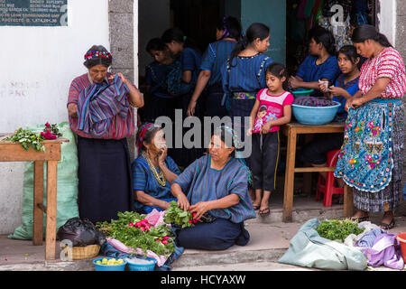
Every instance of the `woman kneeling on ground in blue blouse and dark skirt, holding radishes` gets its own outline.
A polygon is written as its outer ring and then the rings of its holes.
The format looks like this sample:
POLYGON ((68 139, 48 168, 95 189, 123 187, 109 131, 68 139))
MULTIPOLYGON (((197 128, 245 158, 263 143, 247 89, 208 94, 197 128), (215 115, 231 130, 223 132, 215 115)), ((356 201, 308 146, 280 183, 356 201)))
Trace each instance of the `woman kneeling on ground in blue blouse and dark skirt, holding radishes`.
POLYGON ((248 168, 243 159, 234 157, 239 144, 231 128, 220 126, 211 138, 209 154, 191 163, 171 185, 180 208, 202 220, 180 229, 180 247, 225 250, 248 243, 244 221, 254 219, 255 212, 248 194, 248 168))

